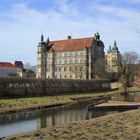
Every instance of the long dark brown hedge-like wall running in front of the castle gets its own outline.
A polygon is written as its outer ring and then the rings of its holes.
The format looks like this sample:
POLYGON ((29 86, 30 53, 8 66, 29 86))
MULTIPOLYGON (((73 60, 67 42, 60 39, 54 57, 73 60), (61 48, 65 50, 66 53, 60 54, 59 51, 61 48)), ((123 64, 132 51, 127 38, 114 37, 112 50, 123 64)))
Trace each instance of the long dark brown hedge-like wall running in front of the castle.
POLYGON ((0 78, 0 97, 63 95, 109 89, 109 80, 0 78))

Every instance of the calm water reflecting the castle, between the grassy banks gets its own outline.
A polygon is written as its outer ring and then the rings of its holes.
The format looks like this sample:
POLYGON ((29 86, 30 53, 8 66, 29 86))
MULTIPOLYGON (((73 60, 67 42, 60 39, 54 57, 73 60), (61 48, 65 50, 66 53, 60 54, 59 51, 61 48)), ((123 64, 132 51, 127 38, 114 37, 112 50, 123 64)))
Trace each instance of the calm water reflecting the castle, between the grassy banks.
MULTIPOLYGON (((140 93, 129 94, 127 96, 113 96, 112 100, 140 102, 140 93)), ((88 104, 90 104, 90 102, 77 103, 64 108, 0 115, 0 137, 88 120, 114 113, 114 111, 88 111, 88 104)))

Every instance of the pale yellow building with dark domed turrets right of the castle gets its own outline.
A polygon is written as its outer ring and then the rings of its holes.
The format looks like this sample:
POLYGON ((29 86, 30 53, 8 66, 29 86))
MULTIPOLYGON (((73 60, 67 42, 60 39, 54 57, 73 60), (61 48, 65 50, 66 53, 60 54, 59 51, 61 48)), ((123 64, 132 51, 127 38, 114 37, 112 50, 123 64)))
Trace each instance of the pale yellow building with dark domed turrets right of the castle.
POLYGON ((116 41, 109 47, 106 54, 106 71, 109 73, 118 73, 121 70, 122 59, 116 41))

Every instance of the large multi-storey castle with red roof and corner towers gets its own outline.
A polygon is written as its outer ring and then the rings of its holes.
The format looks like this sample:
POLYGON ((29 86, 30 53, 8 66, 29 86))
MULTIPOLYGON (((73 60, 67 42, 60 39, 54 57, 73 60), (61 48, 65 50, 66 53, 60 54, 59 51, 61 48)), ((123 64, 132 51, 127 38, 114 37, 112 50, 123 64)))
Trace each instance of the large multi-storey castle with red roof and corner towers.
POLYGON ((49 38, 44 41, 44 36, 41 36, 36 78, 94 79, 104 71, 104 43, 99 33, 77 39, 68 36, 57 41, 49 38))

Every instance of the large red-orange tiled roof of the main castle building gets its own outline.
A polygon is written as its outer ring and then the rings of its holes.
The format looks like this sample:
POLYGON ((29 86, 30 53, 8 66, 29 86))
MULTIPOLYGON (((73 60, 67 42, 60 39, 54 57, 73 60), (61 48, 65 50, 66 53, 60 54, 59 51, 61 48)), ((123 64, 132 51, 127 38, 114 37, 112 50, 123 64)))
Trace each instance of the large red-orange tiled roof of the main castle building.
POLYGON ((79 39, 67 39, 59 41, 50 41, 49 46, 55 51, 80 51, 85 47, 91 47, 94 41, 94 37, 79 38, 79 39))

